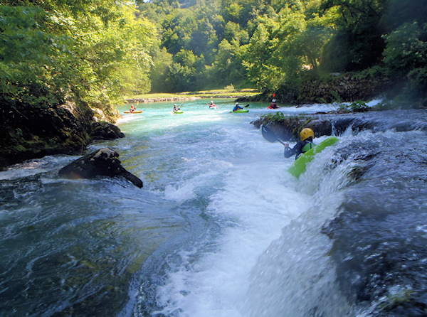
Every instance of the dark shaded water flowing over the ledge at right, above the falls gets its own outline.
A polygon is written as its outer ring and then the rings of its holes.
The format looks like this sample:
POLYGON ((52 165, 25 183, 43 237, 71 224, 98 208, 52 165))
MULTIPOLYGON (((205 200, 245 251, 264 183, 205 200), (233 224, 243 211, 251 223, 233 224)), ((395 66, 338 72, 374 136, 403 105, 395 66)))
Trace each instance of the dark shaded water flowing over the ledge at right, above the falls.
POLYGON ((357 163, 347 173, 354 181, 322 233, 333 241, 330 256, 347 298, 363 306, 373 303, 375 316, 425 316, 426 135, 374 136, 354 144, 359 157, 338 152, 339 160, 357 163))

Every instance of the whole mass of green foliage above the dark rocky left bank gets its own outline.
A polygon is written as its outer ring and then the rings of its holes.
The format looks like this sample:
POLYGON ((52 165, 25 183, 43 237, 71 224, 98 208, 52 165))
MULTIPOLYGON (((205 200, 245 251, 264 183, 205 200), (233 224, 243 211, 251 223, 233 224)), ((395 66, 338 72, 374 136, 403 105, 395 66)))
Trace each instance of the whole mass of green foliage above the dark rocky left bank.
POLYGON ((0 6, 0 91, 38 107, 147 92, 154 30, 134 12, 113 0, 0 6))

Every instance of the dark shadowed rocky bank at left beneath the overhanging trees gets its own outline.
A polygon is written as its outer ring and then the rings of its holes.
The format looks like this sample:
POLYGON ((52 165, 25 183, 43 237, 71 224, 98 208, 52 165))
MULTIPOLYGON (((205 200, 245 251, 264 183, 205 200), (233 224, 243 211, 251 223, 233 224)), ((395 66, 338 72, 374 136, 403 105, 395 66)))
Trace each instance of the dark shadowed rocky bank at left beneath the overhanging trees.
POLYGON ((0 168, 53 154, 80 154, 94 139, 125 136, 107 122, 96 122, 85 104, 33 107, 0 97, 0 168))

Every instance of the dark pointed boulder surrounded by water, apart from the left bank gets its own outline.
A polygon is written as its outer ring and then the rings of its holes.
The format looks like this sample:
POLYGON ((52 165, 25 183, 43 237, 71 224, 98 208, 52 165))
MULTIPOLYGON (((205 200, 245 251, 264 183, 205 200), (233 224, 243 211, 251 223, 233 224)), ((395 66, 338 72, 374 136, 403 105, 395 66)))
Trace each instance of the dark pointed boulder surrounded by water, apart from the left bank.
POLYGON ((118 157, 119 154, 112 149, 99 149, 61 168, 58 176, 70 179, 118 176, 124 177, 135 186, 142 188, 142 181, 126 171, 118 157))

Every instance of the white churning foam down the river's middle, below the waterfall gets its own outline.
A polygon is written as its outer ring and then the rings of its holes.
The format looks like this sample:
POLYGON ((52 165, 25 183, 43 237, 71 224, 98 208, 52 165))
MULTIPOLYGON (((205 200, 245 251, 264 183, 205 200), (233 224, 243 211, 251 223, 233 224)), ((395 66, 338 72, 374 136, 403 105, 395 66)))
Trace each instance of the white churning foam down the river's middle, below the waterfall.
POLYGON ((283 162, 258 161, 228 171, 224 189, 211 196, 208 208, 211 217, 226 224, 223 234, 209 251, 200 254, 196 247, 179 254, 181 266, 159 289, 164 309, 158 314, 241 316, 238 303, 244 299, 258 256, 310 205, 295 192, 287 167, 283 162))

